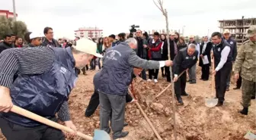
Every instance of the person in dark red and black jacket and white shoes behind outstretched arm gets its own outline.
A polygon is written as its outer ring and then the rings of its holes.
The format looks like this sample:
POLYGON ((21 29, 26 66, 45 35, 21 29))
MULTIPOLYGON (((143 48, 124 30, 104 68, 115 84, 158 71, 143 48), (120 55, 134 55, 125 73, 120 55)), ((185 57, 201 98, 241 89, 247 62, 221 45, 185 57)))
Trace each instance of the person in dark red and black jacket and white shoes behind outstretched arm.
MULTIPOLYGON (((159 39, 159 33, 154 33, 154 38, 149 41, 149 60, 153 61, 161 61, 162 60, 162 41, 159 39)), ((149 70, 149 79, 148 81, 152 81, 152 78, 154 78, 154 82, 158 82, 158 71, 159 69, 153 69, 149 70), (154 76, 154 77, 152 77, 154 76)))

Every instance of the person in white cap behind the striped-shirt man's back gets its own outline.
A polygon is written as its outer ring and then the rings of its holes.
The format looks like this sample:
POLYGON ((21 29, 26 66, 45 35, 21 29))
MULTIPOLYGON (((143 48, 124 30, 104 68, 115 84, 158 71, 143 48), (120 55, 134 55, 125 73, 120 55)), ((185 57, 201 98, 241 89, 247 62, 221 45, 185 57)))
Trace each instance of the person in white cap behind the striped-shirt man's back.
POLYGON ((24 38, 26 42, 28 43, 27 45, 24 45, 24 47, 37 47, 40 46, 42 43, 42 35, 40 33, 32 33, 28 32, 25 34, 24 38))

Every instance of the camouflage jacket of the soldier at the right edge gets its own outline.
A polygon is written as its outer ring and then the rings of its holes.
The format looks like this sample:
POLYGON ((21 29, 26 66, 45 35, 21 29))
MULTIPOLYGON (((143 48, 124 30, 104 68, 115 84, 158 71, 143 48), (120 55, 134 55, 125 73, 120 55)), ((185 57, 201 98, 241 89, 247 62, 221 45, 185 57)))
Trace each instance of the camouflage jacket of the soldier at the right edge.
POLYGON ((242 78, 256 82, 256 43, 248 40, 239 47, 234 69, 235 73, 241 70, 242 78))

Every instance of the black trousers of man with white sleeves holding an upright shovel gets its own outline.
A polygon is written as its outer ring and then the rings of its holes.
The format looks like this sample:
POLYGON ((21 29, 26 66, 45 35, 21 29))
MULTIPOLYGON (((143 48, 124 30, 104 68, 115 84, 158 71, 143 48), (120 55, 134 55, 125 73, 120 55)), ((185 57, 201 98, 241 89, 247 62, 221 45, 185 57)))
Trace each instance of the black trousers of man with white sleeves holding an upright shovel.
POLYGON ((232 62, 227 62, 219 71, 216 72, 216 76, 215 76, 216 98, 218 98, 219 101, 225 101, 226 82, 228 80, 228 76, 231 69, 232 69, 232 62))

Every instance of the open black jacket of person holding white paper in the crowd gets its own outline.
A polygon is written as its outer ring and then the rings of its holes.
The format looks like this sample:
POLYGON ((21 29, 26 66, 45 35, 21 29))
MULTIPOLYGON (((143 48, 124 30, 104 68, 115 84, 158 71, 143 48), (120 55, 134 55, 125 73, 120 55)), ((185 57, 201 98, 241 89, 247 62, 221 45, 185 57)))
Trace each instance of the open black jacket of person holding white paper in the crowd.
MULTIPOLYGON (((200 54, 202 54, 203 45, 204 45, 204 42, 200 45, 200 54)), ((212 48, 213 48, 213 43, 212 43, 212 42, 207 42, 206 49, 205 49, 205 51, 203 52, 203 56, 206 55, 207 58, 208 58, 209 64, 205 64, 205 65, 208 65, 208 66, 211 65, 210 51, 212 50, 212 48)), ((200 57, 200 59, 199 59, 199 66, 200 66, 200 67, 203 67, 203 60, 202 60, 201 57, 200 57)))

